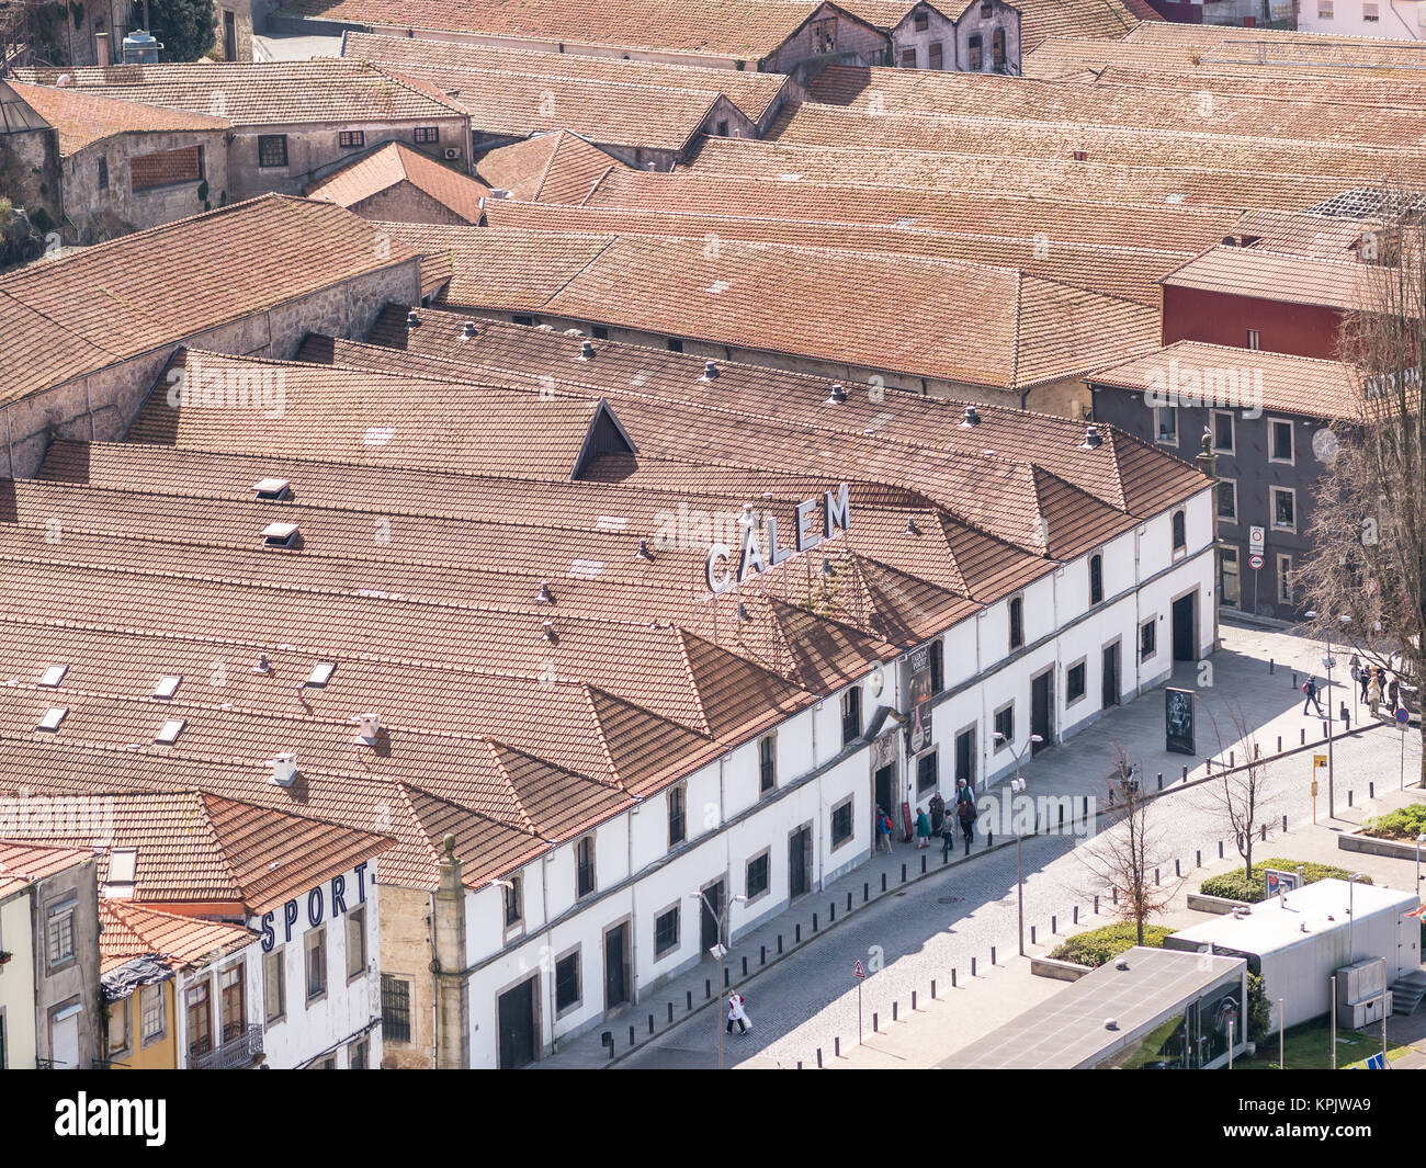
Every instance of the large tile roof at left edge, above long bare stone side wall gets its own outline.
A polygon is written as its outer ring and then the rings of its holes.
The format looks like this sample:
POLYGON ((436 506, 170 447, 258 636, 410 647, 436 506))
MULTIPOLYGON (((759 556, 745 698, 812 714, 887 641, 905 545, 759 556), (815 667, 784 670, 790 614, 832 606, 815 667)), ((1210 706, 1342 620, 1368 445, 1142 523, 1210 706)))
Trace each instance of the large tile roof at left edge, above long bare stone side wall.
POLYGON ((265 195, 0 275, 0 402, 409 260, 325 203, 265 195), (234 258, 242 257, 242 267, 234 258))

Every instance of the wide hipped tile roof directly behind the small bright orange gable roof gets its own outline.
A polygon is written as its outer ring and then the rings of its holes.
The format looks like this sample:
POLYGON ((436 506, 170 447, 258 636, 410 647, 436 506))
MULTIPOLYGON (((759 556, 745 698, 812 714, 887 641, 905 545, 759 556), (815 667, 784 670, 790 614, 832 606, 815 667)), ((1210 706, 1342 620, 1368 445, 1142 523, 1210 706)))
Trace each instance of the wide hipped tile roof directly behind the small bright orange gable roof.
POLYGON ((462 107, 366 61, 317 57, 261 64, 127 64, 21 68, 16 77, 71 91, 224 117, 234 125, 422 121, 462 107))

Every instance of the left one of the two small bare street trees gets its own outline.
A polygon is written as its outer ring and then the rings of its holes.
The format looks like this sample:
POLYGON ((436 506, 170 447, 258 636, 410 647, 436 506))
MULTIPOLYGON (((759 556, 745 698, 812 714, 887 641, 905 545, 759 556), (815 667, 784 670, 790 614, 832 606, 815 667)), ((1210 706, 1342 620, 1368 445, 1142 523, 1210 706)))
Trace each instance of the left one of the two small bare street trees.
POLYGON ((1089 870, 1095 883, 1114 896, 1118 916, 1134 921, 1138 943, 1144 944, 1144 926, 1162 913, 1182 880, 1155 883, 1159 869, 1172 859, 1164 846, 1164 833, 1149 814, 1149 797, 1139 786, 1135 767, 1122 746, 1114 743, 1114 773, 1108 779, 1109 807, 1118 820, 1075 856, 1089 870))

